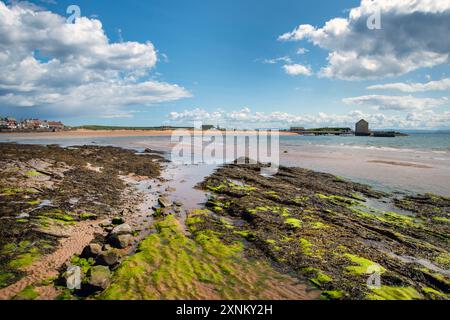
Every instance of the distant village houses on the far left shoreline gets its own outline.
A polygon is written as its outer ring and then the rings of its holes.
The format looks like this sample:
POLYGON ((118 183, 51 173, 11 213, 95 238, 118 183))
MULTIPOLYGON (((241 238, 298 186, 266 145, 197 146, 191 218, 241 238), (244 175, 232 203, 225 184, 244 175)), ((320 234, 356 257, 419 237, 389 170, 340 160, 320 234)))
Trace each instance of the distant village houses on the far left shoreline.
POLYGON ((47 121, 39 119, 26 119, 18 121, 12 117, 0 117, 0 131, 1 132, 56 132, 67 130, 61 121, 47 121))

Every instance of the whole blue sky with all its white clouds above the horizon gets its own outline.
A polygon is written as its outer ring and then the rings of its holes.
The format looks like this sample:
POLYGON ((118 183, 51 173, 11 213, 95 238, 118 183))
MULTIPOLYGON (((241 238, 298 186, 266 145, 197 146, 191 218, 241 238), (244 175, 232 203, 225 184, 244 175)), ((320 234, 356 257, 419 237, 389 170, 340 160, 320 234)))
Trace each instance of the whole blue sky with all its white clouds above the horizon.
POLYGON ((450 0, 0 0, 0 34, 0 116, 450 128, 450 0))

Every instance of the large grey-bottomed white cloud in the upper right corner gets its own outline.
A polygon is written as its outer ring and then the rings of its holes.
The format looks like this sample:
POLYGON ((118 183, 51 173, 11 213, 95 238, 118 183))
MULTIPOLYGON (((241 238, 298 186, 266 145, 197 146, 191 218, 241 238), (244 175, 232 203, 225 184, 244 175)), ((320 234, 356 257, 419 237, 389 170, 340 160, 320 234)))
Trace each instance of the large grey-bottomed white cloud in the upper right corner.
POLYGON ((279 40, 305 40, 329 51, 321 76, 360 80, 447 64, 449 33, 448 0, 362 0, 347 18, 319 28, 302 24, 279 40), (378 12, 381 29, 370 30, 367 21, 378 12))

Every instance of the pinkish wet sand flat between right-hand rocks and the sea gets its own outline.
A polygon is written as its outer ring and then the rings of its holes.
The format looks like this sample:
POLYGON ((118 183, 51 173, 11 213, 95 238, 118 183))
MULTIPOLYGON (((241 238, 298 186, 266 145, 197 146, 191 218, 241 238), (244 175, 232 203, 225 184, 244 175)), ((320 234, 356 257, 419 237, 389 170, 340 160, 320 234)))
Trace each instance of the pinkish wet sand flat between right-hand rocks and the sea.
POLYGON ((309 146, 281 154, 281 163, 391 191, 450 195, 450 159, 433 152, 309 146))

